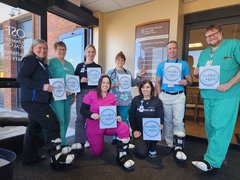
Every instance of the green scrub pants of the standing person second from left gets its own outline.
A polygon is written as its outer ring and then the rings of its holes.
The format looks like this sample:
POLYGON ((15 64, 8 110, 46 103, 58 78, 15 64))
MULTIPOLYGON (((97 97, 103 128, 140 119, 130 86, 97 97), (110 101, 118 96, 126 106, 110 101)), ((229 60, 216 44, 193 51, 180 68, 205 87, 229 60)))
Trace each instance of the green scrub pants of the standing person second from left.
POLYGON ((62 145, 67 144, 66 133, 71 116, 71 100, 72 96, 67 96, 66 100, 53 101, 51 103, 59 121, 62 145))

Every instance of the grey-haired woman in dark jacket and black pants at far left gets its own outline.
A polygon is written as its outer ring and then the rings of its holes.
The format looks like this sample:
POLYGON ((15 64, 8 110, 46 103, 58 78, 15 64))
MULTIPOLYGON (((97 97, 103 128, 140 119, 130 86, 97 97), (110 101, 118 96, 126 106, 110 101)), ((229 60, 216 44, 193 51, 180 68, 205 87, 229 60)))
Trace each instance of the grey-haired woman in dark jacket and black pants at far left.
POLYGON ((70 164, 74 155, 64 154, 65 151, 62 151, 59 122, 49 105, 52 86, 49 84, 47 51, 46 41, 33 40, 29 55, 22 59, 17 74, 21 87, 21 106, 29 118, 23 143, 23 164, 28 165, 39 160, 38 134, 44 129, 51 167, 59 169, 62 164, 70 164))

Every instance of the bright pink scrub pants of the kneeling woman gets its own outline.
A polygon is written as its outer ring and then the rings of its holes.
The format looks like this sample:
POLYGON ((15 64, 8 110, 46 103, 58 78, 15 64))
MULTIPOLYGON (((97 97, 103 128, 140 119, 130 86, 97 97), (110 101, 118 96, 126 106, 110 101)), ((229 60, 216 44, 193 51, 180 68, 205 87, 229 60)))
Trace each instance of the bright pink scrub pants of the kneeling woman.
POLYGON ((129 128, 125 122, 118 122, 117 128, 100 129, 99 120, 87 119, 86 133, 90 143, 91 153, 95 156, 102 154, 104 149, 104 135, 117 135, 118 139, 129 138, 129 128))

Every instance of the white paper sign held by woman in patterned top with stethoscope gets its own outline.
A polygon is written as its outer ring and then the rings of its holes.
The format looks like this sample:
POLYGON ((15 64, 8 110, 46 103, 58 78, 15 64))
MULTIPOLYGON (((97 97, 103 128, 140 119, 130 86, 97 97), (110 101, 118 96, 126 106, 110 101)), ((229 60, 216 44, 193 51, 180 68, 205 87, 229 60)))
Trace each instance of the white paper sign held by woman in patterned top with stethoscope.
POLYGON ((119 85, 120 92, 131 91, 132 78, 130 74, 118 74, 118 79, 120 82, 119 85))

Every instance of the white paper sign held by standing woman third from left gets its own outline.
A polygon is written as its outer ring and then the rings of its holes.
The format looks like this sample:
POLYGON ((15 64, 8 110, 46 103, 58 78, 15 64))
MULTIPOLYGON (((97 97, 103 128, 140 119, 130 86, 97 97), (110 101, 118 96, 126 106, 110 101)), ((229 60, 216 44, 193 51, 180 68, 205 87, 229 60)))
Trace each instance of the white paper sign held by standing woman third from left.
POLYGON ((87 78, 89 86, 97 86, 101 77, 101 68, 87 68, 87 78))

